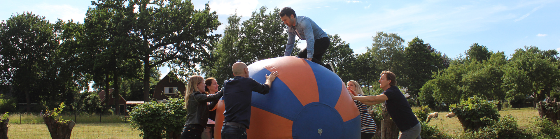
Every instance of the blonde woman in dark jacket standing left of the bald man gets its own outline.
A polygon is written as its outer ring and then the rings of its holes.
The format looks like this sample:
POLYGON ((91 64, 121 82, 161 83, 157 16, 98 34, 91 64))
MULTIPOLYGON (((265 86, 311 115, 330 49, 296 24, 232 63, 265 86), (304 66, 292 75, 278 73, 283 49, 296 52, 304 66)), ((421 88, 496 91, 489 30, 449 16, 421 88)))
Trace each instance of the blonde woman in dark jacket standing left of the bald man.
POLYGON ((202 76, 190 76, 185 91, 186 123, 181 132, 181 139, 200 139, 202 131, 206 128, 210 110, 218 104, 222 98, 222 91, 216 94, 206 95, 204 92, 204 78, 202 76), (211 102, 211 103, 207 103, 211 102))

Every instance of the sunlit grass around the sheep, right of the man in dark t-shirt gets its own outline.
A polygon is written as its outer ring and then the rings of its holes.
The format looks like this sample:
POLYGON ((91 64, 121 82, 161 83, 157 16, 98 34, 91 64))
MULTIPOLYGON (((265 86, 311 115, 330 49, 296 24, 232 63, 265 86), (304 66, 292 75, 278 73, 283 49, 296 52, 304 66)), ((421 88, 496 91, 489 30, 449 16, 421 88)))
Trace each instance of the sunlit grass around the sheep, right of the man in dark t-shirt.
MULTIPOLYGON (((418 109, 418 108, 417 108, 418 109)), ((445 131, 450 135, 459 135, 463 132, 463 127, 459 122, 457 117, 454 118, 446 118, 445 115, 449 112, 438 112, 440 115, 438 120, 431 120, 429 125, 433 126, 436 125, 440 128, 441 131, 445 131)), ((533 108, 521 108, 521 109, 506 109, 500 111, 500 116, 505 115, 512 115, 517 120, 517 124, 522 128, 530 128, 533 127, 535 116, 539 116, 539 113, 536 109, 533 108)))

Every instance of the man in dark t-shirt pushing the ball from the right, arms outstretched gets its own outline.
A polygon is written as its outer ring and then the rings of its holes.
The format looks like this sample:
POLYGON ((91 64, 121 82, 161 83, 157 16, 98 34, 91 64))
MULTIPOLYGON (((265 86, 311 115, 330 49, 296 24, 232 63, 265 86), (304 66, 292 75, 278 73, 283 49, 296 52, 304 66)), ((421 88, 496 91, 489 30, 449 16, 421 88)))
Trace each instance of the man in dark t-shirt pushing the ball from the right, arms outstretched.
POLYGON ((387 112, 391 115, 391 119, 400 130, 399 139, 422 139, 420 137, 421 126, 418 119, 414 116, 407 98, 396 87, 396 76, 393 72, 381 72, 379 79, 379 87, 383 89, 381 95, 376 96, 352 96, 352 99, 366 102, 380 104, 385 102, 387 105, 387 112))

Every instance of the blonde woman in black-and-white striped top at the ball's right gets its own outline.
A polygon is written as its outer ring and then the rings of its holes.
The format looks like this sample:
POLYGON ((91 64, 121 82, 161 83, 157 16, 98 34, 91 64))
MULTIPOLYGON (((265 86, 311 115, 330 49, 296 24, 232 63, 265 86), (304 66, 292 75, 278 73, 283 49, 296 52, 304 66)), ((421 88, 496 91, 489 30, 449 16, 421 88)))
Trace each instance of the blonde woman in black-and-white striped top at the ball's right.
MULTIPOLYGON (((348 81, 347 88, 348 92, 350 92, 353 96, 363 96, 362 87, 356 81, 348 81)), ((374 119, 371 118, 370 114, 367 112, 367 105, 370 103, 362 103, 361 101, 354 100, 356 106, 358 106, 358 110, 360 110, 360 119, 362 121, 362 139, 367 138, 371 139, 374 137, 375 132, 377 131, 377 124, 375 124, 374 119)))

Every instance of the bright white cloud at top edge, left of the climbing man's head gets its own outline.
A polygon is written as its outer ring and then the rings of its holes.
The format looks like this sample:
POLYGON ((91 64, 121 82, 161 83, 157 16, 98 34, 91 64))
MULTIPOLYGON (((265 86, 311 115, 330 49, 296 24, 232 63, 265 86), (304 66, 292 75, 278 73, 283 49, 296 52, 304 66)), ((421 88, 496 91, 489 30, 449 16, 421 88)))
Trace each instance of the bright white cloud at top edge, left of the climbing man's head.
POLYGON ((231 15, 236 13, 242 16, 251 16, 257 8, 257 0, 218 0, 208 3, 213 10, 221 15, 231 15))

